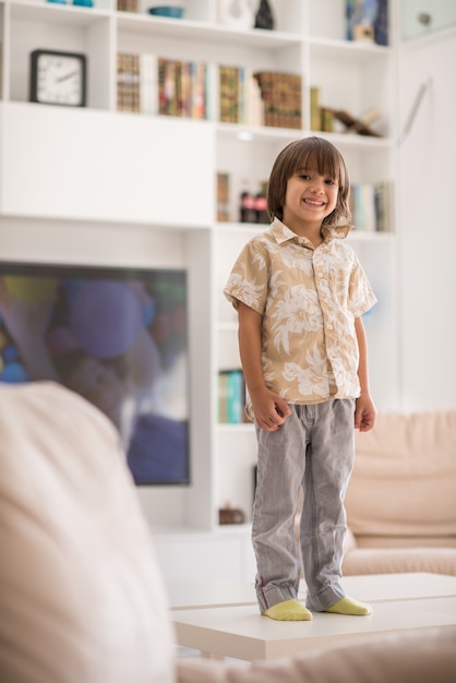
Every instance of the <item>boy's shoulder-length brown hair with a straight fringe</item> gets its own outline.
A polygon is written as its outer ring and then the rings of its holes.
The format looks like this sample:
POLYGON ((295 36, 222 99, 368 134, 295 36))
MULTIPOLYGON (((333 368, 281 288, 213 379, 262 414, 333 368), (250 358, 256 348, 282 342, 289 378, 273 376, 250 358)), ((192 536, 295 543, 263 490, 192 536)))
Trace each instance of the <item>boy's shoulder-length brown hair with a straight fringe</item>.
POLYGON ((350 180, 344 157, 331 142, 316 136, 291 142, 276 158, 267 185, 267 211, 271 219, 284 218, 288 180, 304 168, 315 169, 321 176, 332 178, 339 187, 337 205, 323 220, 322 229, 350 225, 350 180))

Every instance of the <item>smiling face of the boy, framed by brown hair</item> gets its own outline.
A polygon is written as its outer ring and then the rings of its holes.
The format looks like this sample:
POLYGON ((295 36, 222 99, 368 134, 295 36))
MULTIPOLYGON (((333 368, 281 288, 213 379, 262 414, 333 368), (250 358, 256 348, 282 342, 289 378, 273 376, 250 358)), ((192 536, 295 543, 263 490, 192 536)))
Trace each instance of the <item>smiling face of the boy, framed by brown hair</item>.
POLYGON ((333 178, 321 176, 314 169, 300 169, 287 183, 284 223, 298 235, 304 230, 320 230, 321 225, 336 207, 338 184, 333 178))

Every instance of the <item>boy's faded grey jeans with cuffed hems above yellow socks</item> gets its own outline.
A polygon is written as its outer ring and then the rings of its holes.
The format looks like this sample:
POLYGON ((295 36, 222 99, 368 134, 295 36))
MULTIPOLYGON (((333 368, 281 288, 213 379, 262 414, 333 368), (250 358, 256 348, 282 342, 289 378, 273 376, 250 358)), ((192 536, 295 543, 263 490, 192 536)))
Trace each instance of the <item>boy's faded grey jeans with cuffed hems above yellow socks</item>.
POLYGON ((290 405, 276 432, 256 428, 259 464, 252 541, 261 612, 298 597, 301 566, 307 607, 320 612, 345 597, 344 498, 353 467, 355 399, 290 405), (299 556, 295 517, 304 492, 299 556))

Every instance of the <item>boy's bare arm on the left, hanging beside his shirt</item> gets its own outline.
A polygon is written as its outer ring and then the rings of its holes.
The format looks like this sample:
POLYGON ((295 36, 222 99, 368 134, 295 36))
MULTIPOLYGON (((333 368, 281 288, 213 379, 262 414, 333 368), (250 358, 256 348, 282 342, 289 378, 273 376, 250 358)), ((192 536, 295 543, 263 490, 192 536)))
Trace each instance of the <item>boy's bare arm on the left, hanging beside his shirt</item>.
POLYGON ((278 430, 290 410, 287 403, 267 388, 262 368, 262 315, 239 301, 239 352, 245 384, 257 426, 268 432, 278 430))

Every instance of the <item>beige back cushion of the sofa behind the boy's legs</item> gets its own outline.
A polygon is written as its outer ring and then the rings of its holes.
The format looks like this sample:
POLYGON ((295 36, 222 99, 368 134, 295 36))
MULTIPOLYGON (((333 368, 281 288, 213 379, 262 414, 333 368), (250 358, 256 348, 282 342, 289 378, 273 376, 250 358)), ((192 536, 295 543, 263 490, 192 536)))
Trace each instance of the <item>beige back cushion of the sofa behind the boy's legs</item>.
POLYGON ((356 445, 346 508, 358 543, 456 546, 456 410, 380 414, 356 445))

